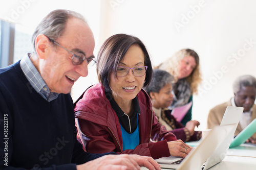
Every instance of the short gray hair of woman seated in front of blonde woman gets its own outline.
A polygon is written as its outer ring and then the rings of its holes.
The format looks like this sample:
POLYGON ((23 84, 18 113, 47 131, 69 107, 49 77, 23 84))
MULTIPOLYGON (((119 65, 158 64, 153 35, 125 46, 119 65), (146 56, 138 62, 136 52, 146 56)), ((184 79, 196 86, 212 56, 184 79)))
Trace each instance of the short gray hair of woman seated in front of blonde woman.
POLYGON ((169 72, 155 69, 153 70, 153 78, 145 90, 150 94, 150 92, 159 92, 166 84, 174 83, 174 77, 169 74, 169 72))

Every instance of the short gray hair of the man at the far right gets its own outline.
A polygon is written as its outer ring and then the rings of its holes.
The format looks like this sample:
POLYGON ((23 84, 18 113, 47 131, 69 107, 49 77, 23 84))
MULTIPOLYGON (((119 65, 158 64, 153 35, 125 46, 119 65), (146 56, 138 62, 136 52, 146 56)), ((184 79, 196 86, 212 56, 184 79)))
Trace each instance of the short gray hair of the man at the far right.
POLYGON ((250 75, 244 75, 244 76, 238 77, 233 82, 233 92, 234 93, 239 92, 242 86, 244 87, 253 86, 256 88, 256 79, 250 75))

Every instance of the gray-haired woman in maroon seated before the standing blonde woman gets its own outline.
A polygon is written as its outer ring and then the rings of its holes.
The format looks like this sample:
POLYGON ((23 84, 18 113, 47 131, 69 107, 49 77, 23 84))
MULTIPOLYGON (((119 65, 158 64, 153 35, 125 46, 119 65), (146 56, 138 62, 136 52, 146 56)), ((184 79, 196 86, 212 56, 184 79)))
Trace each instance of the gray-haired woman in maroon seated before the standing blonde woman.
POLYGON ((197 120, 189 120, 186 126, 183 126, 171 114, 172 110, 167 108, 173 101, 173 82, 174 77, 167 71, 155 69, 151 84, 144 89, 150 95, 153 110, 158 117, 158 121, 167 130, 174 133, 177 139, 181 139, 184 142, 199 140, 202 137, 202 133, 195 131, 195 127, 200 125, 199 122, 197 120))

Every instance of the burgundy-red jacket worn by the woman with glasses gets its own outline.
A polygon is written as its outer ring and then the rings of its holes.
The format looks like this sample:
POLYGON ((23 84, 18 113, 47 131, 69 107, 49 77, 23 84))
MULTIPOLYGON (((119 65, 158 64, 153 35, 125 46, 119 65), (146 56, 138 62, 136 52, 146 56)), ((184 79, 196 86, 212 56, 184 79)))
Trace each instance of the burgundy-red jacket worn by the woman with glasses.
MULTIPOLYGON (((112 97, 112 96, 108 96, 112 97)), ((118 154, 138 154, 158 159, 170 156, 167 141, 177 140, 175 135, 158 123, 152 110, 150 97, 142 89, 137 94, 140 144, 134 150, 124 150, 121 127, 103 86, 98 83, 88 88, 75 103, 78 140, 90 153, 114 151, 118 154), (154 142, 150 142, 150 140, 154 142)))

